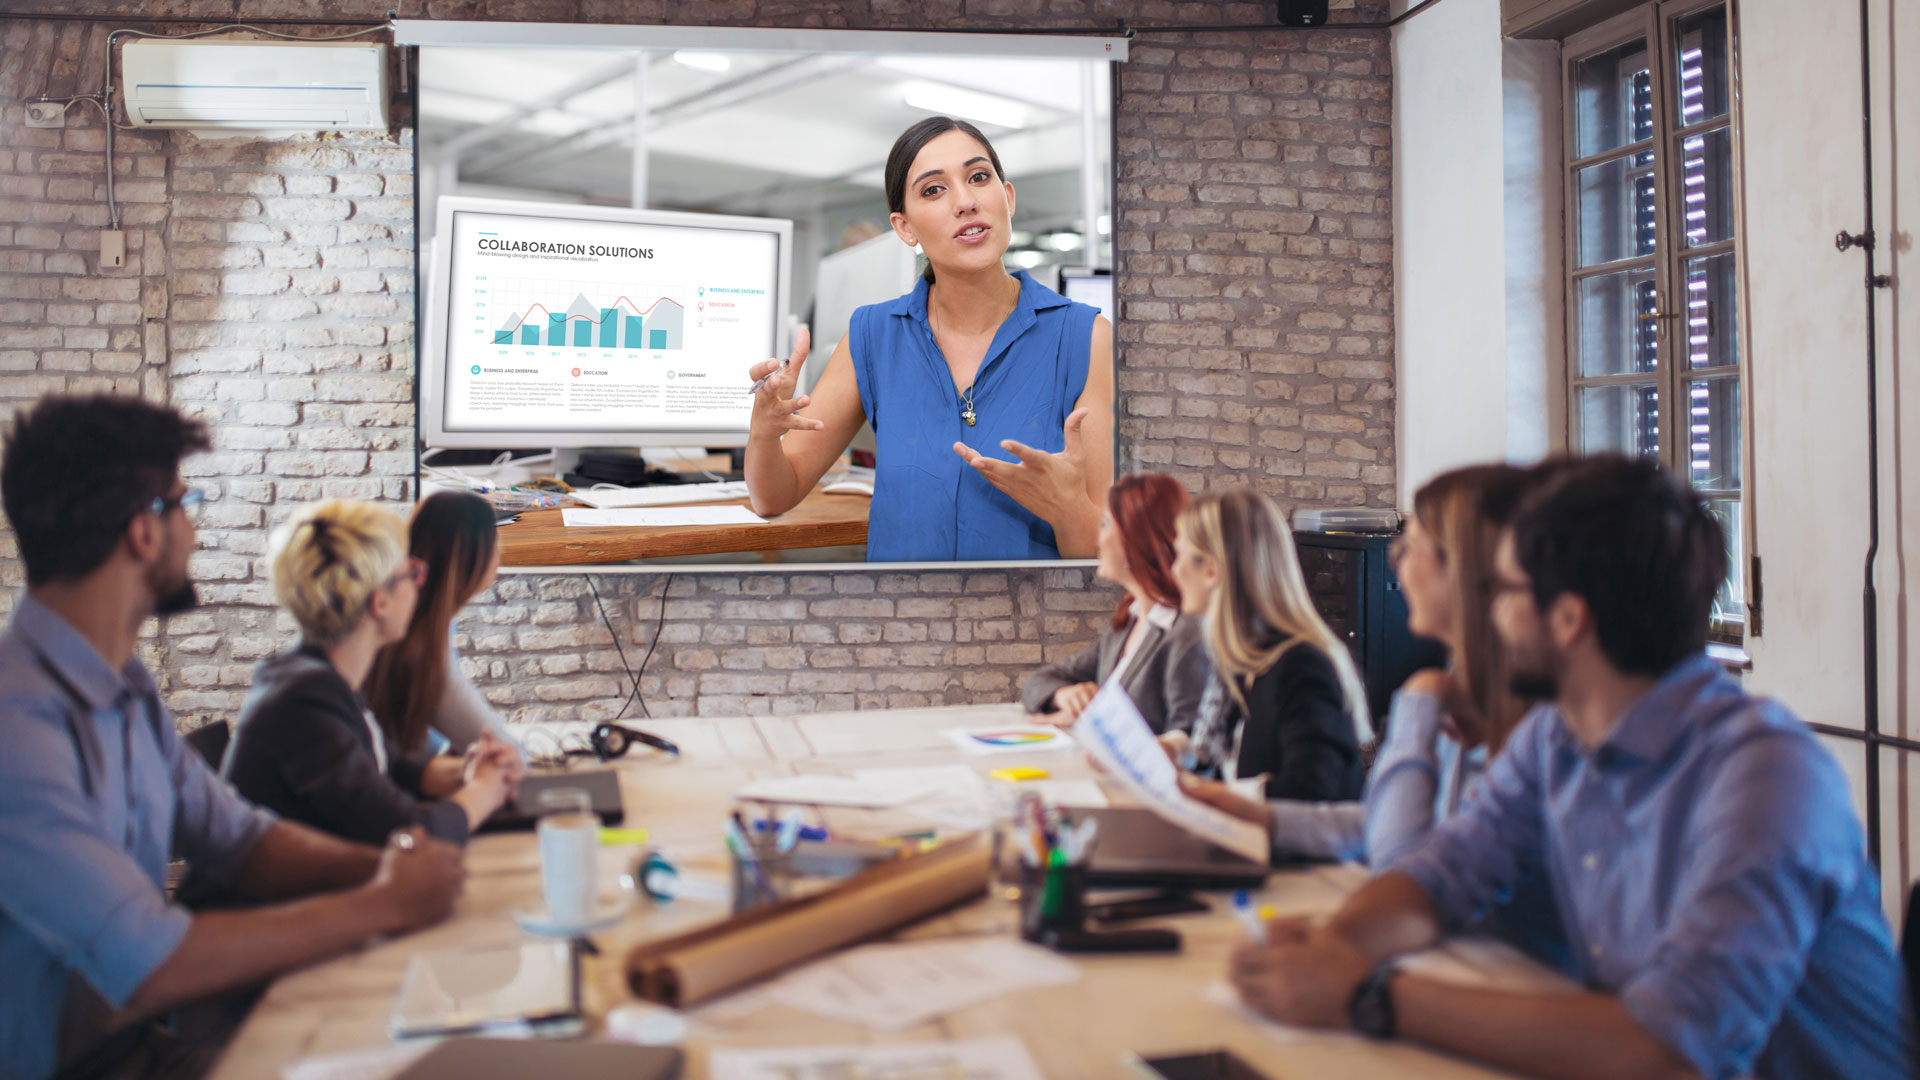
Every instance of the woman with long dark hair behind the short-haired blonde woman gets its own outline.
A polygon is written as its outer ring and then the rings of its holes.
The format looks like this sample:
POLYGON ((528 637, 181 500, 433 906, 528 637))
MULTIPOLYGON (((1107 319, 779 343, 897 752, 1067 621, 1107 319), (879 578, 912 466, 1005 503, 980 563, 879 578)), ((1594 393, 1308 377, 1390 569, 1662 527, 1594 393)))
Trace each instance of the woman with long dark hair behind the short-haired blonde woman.
POLYGON ((407 525, 407 553, 426 563, 426 580, 407 634, 374 659, 367 703, 407 755, 428 753, 430 742, 440 742, 430 730, 455 753, 476 744, 513 748, 499 713, 461 673, 453 651, 453 617, 499 573, 493 507, 468 492, 420 500, 407 525))

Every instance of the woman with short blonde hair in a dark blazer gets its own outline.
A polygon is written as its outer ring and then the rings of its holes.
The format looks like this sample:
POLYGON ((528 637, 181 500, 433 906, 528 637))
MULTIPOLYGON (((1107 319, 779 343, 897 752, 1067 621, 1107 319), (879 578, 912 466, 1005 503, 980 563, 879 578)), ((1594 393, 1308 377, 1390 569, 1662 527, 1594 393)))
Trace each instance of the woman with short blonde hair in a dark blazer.
POLYGON ((482 736, 465 761, 409 759, 361 698, 419 601, 426 567, 407 557, 407 525, 382 505, 330 500, 296 511, 267 553, 300 644, 255 669, 225 776, 253 803, 348 840, 384 844, 420 824, 465 842, 513 796, 518 755, 482 736))

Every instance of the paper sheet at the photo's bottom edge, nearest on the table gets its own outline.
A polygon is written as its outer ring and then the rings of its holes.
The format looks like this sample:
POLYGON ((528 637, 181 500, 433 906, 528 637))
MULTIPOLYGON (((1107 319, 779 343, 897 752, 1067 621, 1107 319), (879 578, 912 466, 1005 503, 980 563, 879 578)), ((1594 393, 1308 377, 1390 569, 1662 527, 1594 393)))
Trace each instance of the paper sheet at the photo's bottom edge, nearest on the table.
POLYGON ((714 1047, 707 1055, 710 1080, 1043 1080, 1014 1036, 966 1042, 787 1045, 762 1049, 714 1047))

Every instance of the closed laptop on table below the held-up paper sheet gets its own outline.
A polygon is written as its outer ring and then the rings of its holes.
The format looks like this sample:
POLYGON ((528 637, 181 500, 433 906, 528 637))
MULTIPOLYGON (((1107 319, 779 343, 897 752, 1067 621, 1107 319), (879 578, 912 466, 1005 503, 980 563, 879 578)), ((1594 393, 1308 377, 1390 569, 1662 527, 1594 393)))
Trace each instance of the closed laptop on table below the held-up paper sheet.
POLYGON ((1187 832, 1144 807, 1068 809, 1073 822, 1096 819, 1100 836, 1087 884, 1104 888, 1260 888, 1267 863, 1254 863, 1187 832))

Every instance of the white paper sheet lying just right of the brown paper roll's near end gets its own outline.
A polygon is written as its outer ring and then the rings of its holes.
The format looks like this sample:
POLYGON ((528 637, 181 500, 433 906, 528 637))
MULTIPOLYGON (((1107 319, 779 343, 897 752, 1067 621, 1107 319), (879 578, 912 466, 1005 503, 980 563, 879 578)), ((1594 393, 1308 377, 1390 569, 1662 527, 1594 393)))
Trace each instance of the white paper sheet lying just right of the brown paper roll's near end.
POLYGON ((1014 938, 862 945, 764 986, 766 1005, 879 1032, 914 1028, 948 1013, 1035 986, 1062 986, 1079 967, 1014 938))

